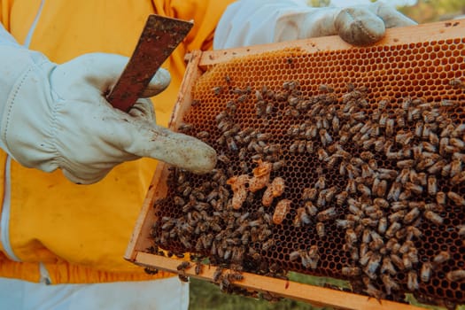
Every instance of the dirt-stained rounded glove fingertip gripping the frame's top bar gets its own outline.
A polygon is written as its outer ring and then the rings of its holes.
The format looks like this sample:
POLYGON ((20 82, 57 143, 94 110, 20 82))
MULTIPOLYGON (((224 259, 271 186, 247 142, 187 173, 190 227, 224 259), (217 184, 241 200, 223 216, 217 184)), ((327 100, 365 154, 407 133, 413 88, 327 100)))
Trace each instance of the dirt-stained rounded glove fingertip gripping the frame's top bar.
POLYGON ((364 7, 345 8, 335 19, 338 35, 347 43, 368 45, 384 37, 383 19, 364 7))

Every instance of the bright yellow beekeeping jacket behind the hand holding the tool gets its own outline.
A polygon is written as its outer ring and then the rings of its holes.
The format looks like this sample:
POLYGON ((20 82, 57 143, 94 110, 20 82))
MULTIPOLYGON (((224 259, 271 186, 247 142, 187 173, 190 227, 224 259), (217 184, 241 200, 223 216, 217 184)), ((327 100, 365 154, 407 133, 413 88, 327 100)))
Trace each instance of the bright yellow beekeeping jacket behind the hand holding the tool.
MULTIPOLYGON (((130 56, 150 13, 194 19, 189 37, 164 64, 172 74, 171 85, 153 99, 159 124, 167 126, 185 69, 184 54, 212 47, 214 28, 231 2, 0 0, 0 18, 18 42, 25 43, 40 11, 29 48, 57 63, 94 51, 130 56)), ((6 159, 1 152, 3 198, 6 184, 11 187, 8 227, 2 231, 9 232, 12 252, 20 262, 2 249, 0 276, 37 282, 39 262, 43 262, 52 283, 153 278, 122 257, 155 169, 154 160, 125 163, 102 182, 82 186, 66 181, 59 171, 45 174, 13 160, 6 178, 6 159)))

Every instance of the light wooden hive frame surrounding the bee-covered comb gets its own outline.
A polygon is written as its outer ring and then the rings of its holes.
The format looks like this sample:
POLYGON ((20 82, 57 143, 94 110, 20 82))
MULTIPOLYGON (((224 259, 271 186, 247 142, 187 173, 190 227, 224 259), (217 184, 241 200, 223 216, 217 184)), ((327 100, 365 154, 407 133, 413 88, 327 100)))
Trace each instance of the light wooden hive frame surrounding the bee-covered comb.
MULTIPOLYGON (((451 20, 446 22, 431 23, 414 27, 400 27, 388 29, 384 39, 376 45, 391 46, 408 43, 419 43, 425 41, 439 41, 465 36, 465 19, 451 20)), ((287 43, 274 43, 258 45, 253 47, 238 48, 231 50, 199 51, 195 50, 186 56, 187 66, 182 87, 180 89, 174 112, 169 122, 169 128, 178 128, 182 122, 183 115, 189 111, 192 102, 191 89, 206 70, 208 66, 228 61, 232 58, 260 54, 266 51, 283 50, 285 48, 298 47, 309 53, 326 50, 346 50, 353 46, 342 41, 338 36, 329 36, 299 40, 287 43)), ((381 59, 380 59, 381 60, 381 59)), ((136 221, 125 259, 143 267, 152 267, 160 270, 179 274, 177 267, 179 259, 167 258, 165 256, 147 252, 151 246, 151 225, 155 222, 155 214, 152 206, 159 198, 167 194, 168 166, 159 163, 143 202, 143 207, 136 221)), ((194 268, 183 270, 183 275, 196 277, 213 282, 215 267, 204 267, 202 272, 196 275, 194 268)), ((367 296, 357 295, 346 291, 337 291, 328 288, 317 287, 308 284, 295 283, 282 279, 243 273, 244 279, 235 282, 234 285, 250 289, 252 291, 270 292, 275 296, 293 298, 308 302, 315 306, 333 306, 347 309, 377 309, 383 306, 386 309, 416 309, 416 306, 399 304, 390 300, 376 300, 367 296)))

